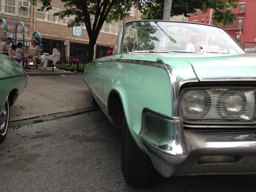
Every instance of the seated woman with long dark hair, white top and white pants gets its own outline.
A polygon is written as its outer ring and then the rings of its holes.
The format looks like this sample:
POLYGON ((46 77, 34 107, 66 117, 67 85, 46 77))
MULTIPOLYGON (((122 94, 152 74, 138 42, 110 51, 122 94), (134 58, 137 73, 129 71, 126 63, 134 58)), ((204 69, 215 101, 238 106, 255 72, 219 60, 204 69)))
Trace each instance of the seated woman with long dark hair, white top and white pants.
POLYGON ((52 55, 45 54, 45 57, 43 57, 41 60, 40 65, 43 65, 44 67, 42 71, 47 71, 46 67, 48 65, 49 60, 53 62, 53 65, 55 65, 57 61, 61 60, 61 51, 58 48, 58 45, 55 41, 51 42, 51 49, 52 49, 52 55))

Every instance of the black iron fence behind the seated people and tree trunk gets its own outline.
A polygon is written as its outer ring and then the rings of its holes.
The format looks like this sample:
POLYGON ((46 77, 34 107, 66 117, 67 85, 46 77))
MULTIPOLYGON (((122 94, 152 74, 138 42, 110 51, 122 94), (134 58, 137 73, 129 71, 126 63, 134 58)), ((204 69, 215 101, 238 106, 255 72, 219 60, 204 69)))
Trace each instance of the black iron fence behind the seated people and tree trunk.
MULTIPOLYGON (((38 37, 34 37, 39 42, 38 37)), ((2 43, 3 39, 0 39, 2 43)), ((31 40, 16 39, 13 41, 15 44, 17 42, 22 42, 24 44, 24 49, 28 51, 31 45, 31 40)), ((42 53, 51 54, 51 41, 52 39, 42 38, 42 53)), ((58 69, 83 72, 84 64, 88 63, 88 44, 80 42, 68 42, 64 40, 54 40, 59 49, 61 50, 61 61, 55 67, 58 69)), ((101 58, 106 56, 106 53, 110 47, 96 45, 94 49, 94 58, 101 58)))

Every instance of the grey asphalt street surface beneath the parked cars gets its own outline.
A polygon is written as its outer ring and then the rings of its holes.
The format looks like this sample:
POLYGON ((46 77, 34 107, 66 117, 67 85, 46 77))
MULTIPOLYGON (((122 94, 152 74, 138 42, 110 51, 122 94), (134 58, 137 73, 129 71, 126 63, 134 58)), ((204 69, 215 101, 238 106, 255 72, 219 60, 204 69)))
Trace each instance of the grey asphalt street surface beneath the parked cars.
POLYGON ((158 177, 150 188, 126 184, 121 132, 100 110, 9 129, 0 145, 1 192, 249 192, 255 177, 158 177))

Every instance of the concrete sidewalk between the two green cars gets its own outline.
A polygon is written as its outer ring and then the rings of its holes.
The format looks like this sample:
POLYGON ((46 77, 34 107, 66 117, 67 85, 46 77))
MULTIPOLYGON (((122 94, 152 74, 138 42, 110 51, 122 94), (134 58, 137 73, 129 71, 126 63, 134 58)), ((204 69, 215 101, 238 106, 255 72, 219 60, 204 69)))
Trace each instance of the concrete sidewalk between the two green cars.
POLYGON ((49 121, 97 110, 82 73, 26 69, 28 85, 10 109, 10 127, 49 121))

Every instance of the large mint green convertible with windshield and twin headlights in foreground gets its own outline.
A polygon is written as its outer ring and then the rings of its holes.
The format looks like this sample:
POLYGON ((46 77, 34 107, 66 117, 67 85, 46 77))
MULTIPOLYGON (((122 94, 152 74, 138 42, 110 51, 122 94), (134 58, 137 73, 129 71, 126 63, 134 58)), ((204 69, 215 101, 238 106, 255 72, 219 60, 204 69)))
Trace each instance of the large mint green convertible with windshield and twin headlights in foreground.
POLYGON ((122 130, 127 183, 256 173, 256 55, 219 27, 139 20, 88 63, 92 104, 122 130))

